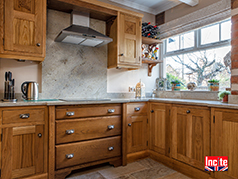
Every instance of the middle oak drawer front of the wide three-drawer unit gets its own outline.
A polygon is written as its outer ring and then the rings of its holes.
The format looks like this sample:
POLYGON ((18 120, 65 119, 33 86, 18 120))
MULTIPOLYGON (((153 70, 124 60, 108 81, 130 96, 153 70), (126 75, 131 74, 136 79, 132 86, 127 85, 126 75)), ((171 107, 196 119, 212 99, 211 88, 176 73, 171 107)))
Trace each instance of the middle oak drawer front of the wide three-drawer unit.
POLYGON ((121 116, 56 121, 56 144, 121 134, 121 116))

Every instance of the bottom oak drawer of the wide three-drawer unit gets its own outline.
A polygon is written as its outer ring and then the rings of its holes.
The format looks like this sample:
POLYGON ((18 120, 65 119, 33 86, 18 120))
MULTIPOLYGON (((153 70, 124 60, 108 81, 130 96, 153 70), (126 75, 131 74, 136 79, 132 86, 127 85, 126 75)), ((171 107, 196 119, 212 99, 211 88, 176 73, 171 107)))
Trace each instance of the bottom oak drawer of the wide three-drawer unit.
POLYGON ((121 137, 56 146, 56 169, 121 156, 121 137))

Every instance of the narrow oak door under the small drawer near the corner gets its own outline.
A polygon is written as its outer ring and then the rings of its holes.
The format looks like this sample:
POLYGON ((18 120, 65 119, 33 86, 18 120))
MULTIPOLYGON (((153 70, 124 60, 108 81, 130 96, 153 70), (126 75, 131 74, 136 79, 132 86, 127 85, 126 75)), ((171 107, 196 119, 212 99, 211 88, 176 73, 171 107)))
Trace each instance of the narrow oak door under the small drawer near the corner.
POLYGON ((128 116, 127 122, 127 153, 145 150, 147 116, 128 116))

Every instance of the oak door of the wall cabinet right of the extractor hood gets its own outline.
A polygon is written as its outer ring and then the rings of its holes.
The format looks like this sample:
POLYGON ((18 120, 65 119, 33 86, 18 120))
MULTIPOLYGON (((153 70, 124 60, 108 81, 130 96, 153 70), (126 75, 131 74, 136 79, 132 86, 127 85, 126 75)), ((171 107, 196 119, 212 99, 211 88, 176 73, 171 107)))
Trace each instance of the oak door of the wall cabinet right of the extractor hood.
POLYGON ((141 66, 141 19, 119 14, 119 66, 141 66))

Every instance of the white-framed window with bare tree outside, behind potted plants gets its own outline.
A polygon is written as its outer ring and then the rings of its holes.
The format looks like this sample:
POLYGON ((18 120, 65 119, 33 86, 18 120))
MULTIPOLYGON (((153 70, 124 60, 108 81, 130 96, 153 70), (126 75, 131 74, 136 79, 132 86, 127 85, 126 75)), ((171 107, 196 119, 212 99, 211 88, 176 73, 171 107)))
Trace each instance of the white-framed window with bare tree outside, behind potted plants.
POLYGON ((230 19, 168 38, 163 58, 168 80, 179 79, 186 84, 196 82, 197 90, 208 90, 210 79, 220 80, 220 90, 230 86, 230 67, 225 56, 231 50, 230 19))

